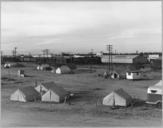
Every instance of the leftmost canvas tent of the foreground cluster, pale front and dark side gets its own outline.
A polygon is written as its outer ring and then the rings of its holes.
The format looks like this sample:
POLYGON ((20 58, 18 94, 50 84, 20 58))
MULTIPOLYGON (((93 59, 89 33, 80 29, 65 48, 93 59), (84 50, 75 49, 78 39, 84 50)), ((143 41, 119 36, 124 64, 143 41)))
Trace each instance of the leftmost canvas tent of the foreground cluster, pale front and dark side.
POLYGON ((40 94, 32 86, 18 88, 11 94, 10 100, 28 102, 41 100, 40 94))

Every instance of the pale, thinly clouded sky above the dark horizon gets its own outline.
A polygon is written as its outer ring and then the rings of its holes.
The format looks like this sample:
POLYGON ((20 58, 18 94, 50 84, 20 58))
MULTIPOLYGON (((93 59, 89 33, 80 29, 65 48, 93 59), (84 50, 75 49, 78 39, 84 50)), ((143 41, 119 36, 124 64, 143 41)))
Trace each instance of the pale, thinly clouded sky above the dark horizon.
POLYGON ((160 52, 160 1, 2 2, 1 50, 160 52))

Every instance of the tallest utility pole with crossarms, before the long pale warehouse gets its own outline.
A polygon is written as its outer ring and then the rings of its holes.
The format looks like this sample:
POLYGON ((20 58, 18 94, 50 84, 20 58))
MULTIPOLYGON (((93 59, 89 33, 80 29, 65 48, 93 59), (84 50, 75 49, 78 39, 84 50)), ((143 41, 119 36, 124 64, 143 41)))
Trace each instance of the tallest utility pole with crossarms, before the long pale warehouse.
POLYGON ((108 66, 107 66, 107 74, 110 74, 111 71, 113 70, 113 65, 112 65, 112 45, 106 45, 107 51, 108 51, 108 66))

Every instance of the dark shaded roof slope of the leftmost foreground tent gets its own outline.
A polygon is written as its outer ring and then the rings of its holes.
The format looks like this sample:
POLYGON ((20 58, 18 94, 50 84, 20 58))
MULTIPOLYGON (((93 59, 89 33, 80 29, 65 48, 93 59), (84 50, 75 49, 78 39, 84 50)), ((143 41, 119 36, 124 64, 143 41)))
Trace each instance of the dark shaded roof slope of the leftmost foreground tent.
POLYGON ((20 87, 19 90, 23 92, 26 97, 40 97, 40 94, 32 86, 20 87))

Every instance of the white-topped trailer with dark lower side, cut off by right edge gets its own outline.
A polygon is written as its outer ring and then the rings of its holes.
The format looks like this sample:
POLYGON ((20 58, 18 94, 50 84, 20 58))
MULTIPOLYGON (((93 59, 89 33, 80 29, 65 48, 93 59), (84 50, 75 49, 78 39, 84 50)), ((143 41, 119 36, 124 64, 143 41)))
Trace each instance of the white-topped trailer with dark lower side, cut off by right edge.
POLYGON ((147 102, 148 104, 157 104, 162 103, 162 80, 160 80, 158 83, 156 83, 153 86, 150 86, 147 89, 147 102))

